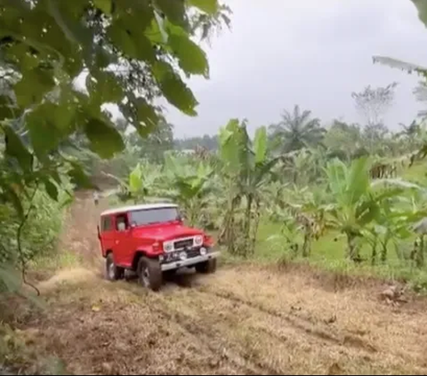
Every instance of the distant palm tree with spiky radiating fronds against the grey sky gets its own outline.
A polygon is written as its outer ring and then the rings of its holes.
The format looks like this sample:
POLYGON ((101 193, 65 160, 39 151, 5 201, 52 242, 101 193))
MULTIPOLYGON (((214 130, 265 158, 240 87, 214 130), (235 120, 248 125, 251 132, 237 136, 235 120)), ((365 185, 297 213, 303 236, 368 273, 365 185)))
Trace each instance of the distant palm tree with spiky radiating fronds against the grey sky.
POLYGON ((277 141, 276 145, 282 153, 308 148, 318 145, 326 132, 320 126, 320 120, 310 118, 311 111, 301 112, 298 105, 294 106, 294 113, 284 111, 282 121, 270 125, 271 137, 277 141))

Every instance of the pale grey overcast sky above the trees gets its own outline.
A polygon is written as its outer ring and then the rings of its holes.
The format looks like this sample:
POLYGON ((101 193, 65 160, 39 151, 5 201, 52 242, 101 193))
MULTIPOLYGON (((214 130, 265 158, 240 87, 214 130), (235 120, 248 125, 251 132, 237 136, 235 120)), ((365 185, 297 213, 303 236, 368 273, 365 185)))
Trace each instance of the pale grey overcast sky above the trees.
POLYGON ((294 104, 325 124, 358 121, 350 93, 392 81, 399 89, 389 127, 416 116, 418 78, 372 62, 385 55, 427 65, 427 29, 410 0, 225 1, 232 29, 206 50, 211 79, 189 80, 198 116, 173 108, 166 114, 177 137, 215 133, 230 117, 246 117, 253 131, 294 104))

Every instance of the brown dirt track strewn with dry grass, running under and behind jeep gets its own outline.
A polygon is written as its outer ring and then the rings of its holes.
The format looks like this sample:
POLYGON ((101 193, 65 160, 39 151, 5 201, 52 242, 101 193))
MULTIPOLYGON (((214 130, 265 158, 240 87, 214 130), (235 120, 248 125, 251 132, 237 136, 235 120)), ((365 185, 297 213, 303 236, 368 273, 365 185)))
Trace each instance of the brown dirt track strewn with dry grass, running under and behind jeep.
POLYGON ((337 290, 333 277, 292 267, 176 276, 157 293, 109 283, 96 237, 105 203, 80 198, 63 241, 89 268, 41 283, 50 309, 28 323, 42 351, 60 356, 69 372, 426 374, 423 301, 391 307, 372 283, 337 290))

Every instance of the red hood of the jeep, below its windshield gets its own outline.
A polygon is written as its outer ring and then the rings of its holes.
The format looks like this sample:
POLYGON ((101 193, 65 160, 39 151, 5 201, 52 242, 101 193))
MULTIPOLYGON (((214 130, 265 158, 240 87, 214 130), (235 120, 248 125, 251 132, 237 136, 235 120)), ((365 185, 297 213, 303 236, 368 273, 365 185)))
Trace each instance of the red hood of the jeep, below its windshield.
POLYGON ((196 235, 203 235, 203 231, 197 228, 188 228, 177 223, 162 223, 133 229, 133 236, 161 241, 196 235))

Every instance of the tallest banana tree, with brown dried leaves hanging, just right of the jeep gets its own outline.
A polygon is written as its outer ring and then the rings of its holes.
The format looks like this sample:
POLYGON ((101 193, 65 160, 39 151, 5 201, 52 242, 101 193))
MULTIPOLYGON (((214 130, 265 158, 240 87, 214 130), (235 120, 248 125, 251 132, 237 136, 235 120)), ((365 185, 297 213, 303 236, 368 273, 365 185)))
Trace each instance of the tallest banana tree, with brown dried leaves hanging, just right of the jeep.
POLYGON ((220 131, 220 156, 222 172, 229 188, 228 211, 223 222, 222 240, 229 251, 247 256, 254 252, 256 233, 260 220, 262 188, 270 182, 270 176, 280 156, 270 158, 267 153, 267 129, 256 130, 254 141, 246 131, 246 121, 230 120, 220 131), (245 204, 242 224, 242 242, 236 238, 238 209, 245 204))

